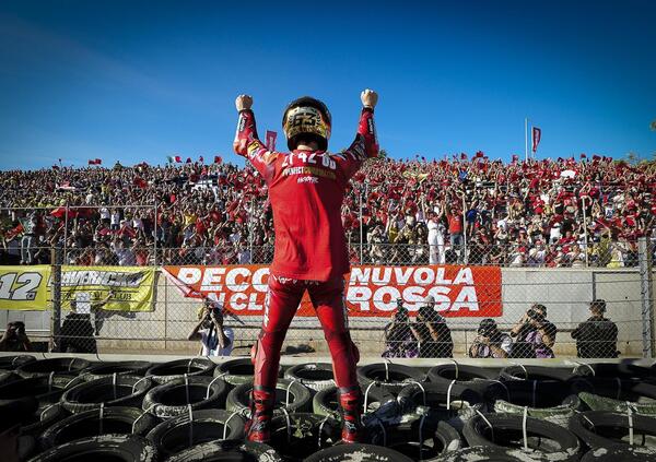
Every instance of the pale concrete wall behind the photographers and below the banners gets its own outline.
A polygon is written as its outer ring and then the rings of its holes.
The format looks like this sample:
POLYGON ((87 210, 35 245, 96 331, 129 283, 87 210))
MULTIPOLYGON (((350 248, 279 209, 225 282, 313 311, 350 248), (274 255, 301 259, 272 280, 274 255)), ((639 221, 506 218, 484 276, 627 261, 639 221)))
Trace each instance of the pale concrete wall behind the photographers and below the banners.
MULTIPOLYGON (((589 316, 588 304, 604 298, 608 304, 607 317, 619 328, 618 347, 624 355, 642 355, 642 315, 640 274, 637 270, 578 270, 578 269, 503 269, 503 316, 497 322, 505 329, 523 316, 534 303, 548 308, 548 319, 559 328, 555 352, 559 356, 576 354, 570 331, 589 316)), ((652 296, 656 299, 656 293, 652 296)), ((159 275, 153 312, 131 317, 115 315, 105 321, 99 339, 102 351, 126 353, 162 352, 194 354, 198 347, 186 337, 195 325, 199 303, 183 297, 166 277, 159 275)), ((28 334, 49 332, 50 312, 0 310, 0 325, 8 320, 24 320, 28 334)), ((247 354, 255 341, 259 317, 243 317, 247 325, 234 321, 236 354, 247 354)), ((464 354, 476 335, 480 318, 449 318, 456 354, 464 354)), ((383 351, 383 327, 386 318, 352 318, 352 336, 365 354, 383 351)), ((315 318, 295 318, 288 333, 286 345, 309 344, 319 353, 326 352, 323 332, 315 318)))

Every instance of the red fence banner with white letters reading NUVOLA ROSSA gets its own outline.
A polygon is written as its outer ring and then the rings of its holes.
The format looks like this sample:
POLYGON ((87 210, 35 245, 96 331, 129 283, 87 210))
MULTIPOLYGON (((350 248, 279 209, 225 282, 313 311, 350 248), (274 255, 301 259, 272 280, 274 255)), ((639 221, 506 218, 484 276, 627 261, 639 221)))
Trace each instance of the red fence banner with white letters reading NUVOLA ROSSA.
MULTIPOLYGON (((186 297, 214 294, 239 316, 263 312, 269 266, 164 266, 164 272, 186 297)), ((445 317, 500 317, 499 266, 353 266, 344 277, 350 316, 388 317, 402 298, 410 313, 429 295, 445 317)), ((307 294, 297 316, 315 316, 307 294)))

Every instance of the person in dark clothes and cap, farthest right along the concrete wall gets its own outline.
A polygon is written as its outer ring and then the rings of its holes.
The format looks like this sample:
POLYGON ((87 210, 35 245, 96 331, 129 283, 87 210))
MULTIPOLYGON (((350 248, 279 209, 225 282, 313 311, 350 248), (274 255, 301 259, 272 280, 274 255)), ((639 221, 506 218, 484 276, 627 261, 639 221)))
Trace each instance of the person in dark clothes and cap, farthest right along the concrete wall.
POLYGON ((590 317, 572 332, 576 341, 576 353, 579 358, 617 358, 618 325, 605 318, 606 300, 596 299, 590 303, 590 317))

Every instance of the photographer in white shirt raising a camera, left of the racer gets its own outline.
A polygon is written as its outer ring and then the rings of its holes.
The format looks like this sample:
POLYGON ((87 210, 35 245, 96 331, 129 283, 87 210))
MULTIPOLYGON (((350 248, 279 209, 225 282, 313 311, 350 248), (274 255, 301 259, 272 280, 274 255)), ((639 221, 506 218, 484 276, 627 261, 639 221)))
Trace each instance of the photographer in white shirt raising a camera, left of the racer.
POLYGON ((234 345, 234 332, 223 327, 221 306, 206 298, 198 312, 199 322, 187 340, 199 340, 202 356, 230 356, 234 345))

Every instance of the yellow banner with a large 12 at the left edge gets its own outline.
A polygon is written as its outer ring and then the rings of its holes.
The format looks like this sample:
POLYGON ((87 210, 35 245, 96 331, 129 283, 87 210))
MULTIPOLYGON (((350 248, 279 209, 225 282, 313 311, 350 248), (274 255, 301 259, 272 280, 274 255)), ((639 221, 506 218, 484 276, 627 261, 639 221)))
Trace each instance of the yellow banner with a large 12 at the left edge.
POLYGON ((0 266, 0 308, 45 310, 50 308, 50 266, 0 266))

